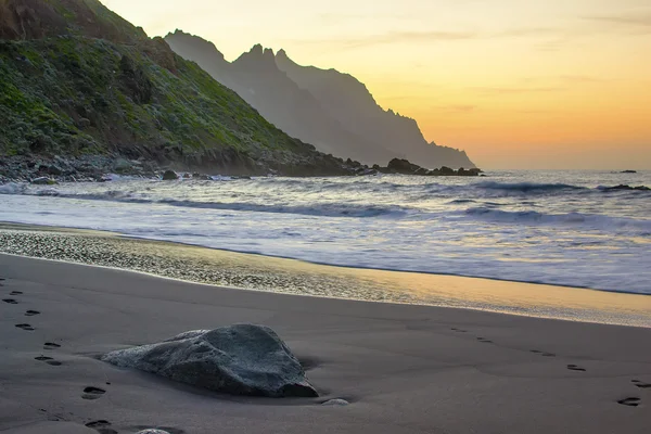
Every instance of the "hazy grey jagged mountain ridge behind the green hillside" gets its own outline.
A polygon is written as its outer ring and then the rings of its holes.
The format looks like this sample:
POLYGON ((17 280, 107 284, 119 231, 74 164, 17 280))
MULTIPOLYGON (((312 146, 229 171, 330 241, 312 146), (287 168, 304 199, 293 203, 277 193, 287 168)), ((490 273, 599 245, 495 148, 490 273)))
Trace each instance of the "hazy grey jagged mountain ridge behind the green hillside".
POLYGON ((284 50, 275 54, 259 44, 230 63, 212 42, 181 30, 165 40, 276 126, 322 152, 367 164, 398 157, 425 167, 475 167, 465 152, 427 143, 414 119, 383 110, 348 74, 301 66, 284 50))

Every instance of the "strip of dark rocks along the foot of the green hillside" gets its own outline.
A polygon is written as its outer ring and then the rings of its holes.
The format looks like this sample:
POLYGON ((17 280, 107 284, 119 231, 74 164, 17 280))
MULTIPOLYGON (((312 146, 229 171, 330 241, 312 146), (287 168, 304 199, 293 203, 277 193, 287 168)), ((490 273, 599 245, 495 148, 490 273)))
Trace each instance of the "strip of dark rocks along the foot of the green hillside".
POLYGON ((180 178, 212 179, 214 175, 250 177, 250 176, 373 176, 379 174, 414 175, 414 176, 480 176, 482 170, 449 167, 430 170, 412 164, 407 159, 392 159, 386 167, 374 165, 369 167, 350 158, 337 158, 337 167, 321 167, 310 170, 308 167, 294 169, 275 169, 260 167, 251 170, 243 167, 205 167, 181 164, 158 164, 144 158, 128 159, 122 156, 82 155, 78 157, 53 156, 0 156, 0 183, 31 182, 36 184, 53 184, 58 182, 104 182, 111 180, 108 175, 132 176, 152 179, 175 180, 180 178))

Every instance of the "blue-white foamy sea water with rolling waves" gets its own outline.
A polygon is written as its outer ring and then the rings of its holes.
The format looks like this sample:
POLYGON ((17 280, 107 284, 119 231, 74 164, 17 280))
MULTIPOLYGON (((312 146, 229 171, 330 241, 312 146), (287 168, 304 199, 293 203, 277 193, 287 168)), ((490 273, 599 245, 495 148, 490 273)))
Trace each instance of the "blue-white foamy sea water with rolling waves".
POLYGON ((318 264, 651 294, 651 171, 0 186, 0 220, 318 264))

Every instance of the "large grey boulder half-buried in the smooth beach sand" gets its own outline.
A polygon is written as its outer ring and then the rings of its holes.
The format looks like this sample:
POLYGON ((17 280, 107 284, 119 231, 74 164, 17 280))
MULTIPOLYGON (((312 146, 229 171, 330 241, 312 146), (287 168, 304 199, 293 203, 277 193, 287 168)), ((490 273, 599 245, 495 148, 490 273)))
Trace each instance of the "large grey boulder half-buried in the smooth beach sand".
POLYGON ((235 324, 108 353, 102 360, 215 392, 268 397, 319 396, 273 330, 235 324))

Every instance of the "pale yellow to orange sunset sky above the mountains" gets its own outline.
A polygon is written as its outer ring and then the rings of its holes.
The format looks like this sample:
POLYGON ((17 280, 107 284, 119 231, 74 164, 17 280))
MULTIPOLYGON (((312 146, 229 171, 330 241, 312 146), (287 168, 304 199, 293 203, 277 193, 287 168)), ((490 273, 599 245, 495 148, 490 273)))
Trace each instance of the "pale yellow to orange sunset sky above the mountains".
POLYGON ((365 82, 480 167, 651 169, 651 0, 103 0, 365 82))

